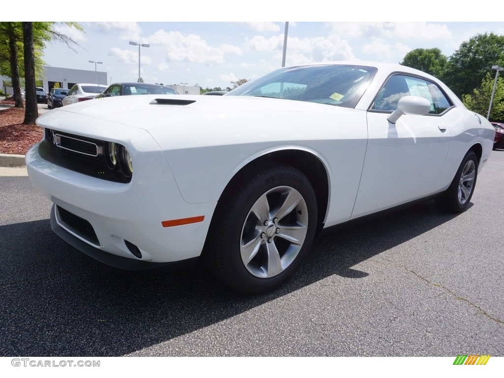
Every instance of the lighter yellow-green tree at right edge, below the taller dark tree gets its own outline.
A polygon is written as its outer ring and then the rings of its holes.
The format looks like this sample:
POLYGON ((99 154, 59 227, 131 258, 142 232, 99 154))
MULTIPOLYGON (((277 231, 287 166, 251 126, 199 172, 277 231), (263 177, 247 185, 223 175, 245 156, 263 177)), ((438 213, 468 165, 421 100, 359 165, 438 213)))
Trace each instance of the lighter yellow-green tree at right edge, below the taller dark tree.
MULTIPOLYGON (((469 109, 476 113, 485 115, 488 113, 490 105, 490 97, 492 95, 493 83, 495 77, 486 74, 481 82, 481 85, 472 91, 471 94, 462 95, 462 102, 469 109)), ((490 111, 490 119, 496 121, 504 120, 504 79, 499 77, 495 86, 495 94, 492 101, 492 109, 490 111)))

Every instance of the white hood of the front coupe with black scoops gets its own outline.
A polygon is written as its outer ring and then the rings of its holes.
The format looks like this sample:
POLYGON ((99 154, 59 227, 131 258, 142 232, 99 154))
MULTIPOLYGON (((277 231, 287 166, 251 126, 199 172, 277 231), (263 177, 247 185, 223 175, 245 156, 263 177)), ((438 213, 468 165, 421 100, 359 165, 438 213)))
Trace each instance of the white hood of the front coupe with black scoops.
MULTIPOLYGON (((245 96, 180 96, 141 95, 105 97, 57 108, 37 119, 42 126, 58 128, 71 124, 82 116, 98 118, 130 127, 151 131, 157 128, 184 128, 188 124, 230 124, 239 119, 261 118, 282 113, 295 118, 294 113, 320 114, 325 111, 355 111, 332 105, 277 98, 245 96)), ((85 117, 85 118, 87 118, 85 117)), ((88 119, 92 123, 91 119, 88 119)))

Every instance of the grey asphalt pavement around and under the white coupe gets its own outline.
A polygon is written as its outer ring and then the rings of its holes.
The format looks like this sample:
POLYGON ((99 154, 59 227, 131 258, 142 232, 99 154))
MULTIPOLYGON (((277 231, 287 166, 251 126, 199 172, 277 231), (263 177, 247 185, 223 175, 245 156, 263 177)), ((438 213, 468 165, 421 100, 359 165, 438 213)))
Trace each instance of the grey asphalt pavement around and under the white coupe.
POLYGON ((503 173, 494 151, 463 214, 427 202, 318 238, 262 296, 103 266, 27 177, 0 177, 0 356, 503 356, 503 173))

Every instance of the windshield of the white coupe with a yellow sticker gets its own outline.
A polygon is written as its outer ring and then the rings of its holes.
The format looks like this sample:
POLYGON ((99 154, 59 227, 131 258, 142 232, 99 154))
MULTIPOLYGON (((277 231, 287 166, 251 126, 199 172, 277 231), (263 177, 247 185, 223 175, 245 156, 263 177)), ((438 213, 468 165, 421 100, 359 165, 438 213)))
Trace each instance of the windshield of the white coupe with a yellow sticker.
POLYGON ((376 74, 374 67, 291 67, 245 83, 226 96, 273 97, 354 107, 376 74))

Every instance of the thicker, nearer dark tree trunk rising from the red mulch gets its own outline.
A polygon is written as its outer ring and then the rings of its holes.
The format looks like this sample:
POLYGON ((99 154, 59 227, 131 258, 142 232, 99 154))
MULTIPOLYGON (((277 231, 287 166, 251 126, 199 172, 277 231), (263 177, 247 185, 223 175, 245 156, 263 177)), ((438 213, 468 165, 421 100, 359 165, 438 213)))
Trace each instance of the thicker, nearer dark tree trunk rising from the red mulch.
POLYGON ((25 57, 26 110, 24 124, 35 124, 38 117, 37 93, 35 91, 35 54, 31 22, 23 22, 23 46, 25 57))

